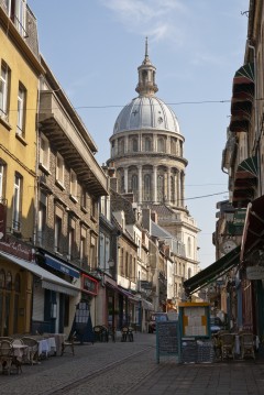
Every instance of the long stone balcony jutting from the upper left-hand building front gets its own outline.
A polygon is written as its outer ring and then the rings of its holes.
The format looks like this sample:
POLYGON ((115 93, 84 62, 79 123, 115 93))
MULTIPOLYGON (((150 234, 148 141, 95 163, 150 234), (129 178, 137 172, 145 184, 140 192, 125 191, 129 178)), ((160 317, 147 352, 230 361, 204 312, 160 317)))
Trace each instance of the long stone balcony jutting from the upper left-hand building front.
POLYGON ((91 138, 78 116, 66 112, 53 91, 41 92, 38 122, 41 131, 64 156, 79 180, 95 196, 107 195, 107 176, 94 156, 91 138))

